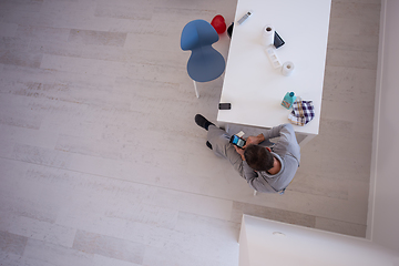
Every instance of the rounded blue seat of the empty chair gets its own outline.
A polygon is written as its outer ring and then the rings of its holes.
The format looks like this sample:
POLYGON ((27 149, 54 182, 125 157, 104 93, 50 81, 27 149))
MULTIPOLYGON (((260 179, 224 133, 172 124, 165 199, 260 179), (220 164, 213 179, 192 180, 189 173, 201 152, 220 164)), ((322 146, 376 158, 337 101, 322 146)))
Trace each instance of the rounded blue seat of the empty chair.
POLYGON ((212 47, 203 47, 193 51, 187 62, 187 73, 197 82, 215 80, 223 74, 224 70, 223 55, 212 47))

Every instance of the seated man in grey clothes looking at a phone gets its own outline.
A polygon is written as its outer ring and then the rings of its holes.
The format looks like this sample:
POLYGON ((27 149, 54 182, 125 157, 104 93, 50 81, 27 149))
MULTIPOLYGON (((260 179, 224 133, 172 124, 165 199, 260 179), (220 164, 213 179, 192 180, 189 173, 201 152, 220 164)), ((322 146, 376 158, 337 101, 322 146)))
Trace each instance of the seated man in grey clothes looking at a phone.
POLYGON ((233 167, 255 191, 284 193, 299 167, 300 147, 291 124, 265 130, 257 136, 248 136, 239 149, 229 143, 231 135, 203 115, 195 115, 195 123, 207 131, 206 145, 216 155, 231 162, 233 167), (265 141, 279 136, 272 146, 260 146, 265 141))

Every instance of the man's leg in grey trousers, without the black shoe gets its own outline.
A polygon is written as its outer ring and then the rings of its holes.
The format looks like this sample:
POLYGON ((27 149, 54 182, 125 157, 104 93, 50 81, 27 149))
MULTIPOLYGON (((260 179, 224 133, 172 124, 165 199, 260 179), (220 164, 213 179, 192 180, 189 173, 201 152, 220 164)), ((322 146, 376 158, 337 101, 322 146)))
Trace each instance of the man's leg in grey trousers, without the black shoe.
POLYGON ((244 176, 243 160, 235 151, 232 143, 229 143, 231 135, 224 130, 211 124, 208 126, 207 141, 212 144, 212 150, 218 156, 225 157, 233 165, 233 167, 244 176))

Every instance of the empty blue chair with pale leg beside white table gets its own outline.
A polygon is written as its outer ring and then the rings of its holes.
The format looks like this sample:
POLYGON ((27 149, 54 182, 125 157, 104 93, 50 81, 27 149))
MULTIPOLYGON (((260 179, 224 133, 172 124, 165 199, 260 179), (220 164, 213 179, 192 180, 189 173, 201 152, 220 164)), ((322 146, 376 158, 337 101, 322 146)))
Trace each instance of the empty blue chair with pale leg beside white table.
POLYGON ((212 44, 218 41, 216 30, 205 20, 188 22, 183 31, 181 48, 191 50, 187 73, 194 81, 195 94, 200 98, 196 82, 207 82, 221 76, 225 70, 225 60, 212 44))

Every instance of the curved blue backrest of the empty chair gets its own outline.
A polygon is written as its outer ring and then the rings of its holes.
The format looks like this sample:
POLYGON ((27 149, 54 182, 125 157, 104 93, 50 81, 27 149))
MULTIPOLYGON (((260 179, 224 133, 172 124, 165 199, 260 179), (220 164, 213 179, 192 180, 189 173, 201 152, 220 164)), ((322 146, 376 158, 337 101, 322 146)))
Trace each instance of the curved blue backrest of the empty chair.
POLYGON ((205 20, 193 20, 188 22, 181 38, 182 50, 195 50, 201 47, 212 45, 218 41, 218 34, 212 24, 205 20))

